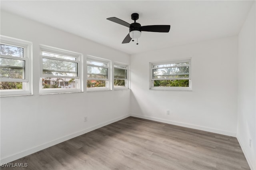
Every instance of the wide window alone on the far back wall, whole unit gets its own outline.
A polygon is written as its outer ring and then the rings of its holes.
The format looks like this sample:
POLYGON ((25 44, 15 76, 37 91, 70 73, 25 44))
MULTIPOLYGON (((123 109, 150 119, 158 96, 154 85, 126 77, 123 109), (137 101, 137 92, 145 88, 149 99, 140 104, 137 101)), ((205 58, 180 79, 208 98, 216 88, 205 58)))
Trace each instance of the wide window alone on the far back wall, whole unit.
POLYGON ((191 90, 191 59, 150 63, 150 89, 191 90))

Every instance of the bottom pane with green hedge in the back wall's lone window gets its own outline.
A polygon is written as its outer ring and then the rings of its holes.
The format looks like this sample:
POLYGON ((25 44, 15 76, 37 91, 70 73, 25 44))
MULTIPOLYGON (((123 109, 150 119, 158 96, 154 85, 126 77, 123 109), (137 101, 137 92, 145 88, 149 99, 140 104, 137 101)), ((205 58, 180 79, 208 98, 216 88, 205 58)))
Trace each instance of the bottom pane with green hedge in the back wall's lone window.
POLYGON ((155 80, 154 87, 188 87, 189 80, 155 80))

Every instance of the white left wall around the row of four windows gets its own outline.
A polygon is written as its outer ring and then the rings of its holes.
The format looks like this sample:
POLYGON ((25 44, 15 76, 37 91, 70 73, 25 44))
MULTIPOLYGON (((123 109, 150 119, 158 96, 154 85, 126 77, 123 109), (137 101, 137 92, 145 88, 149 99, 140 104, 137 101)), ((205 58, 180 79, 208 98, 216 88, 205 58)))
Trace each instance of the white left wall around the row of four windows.
POLYGON ((39 95, 38 45, 82 53, 85 69, 86 55, 127 64, 130 55, 3 11, 1 35, 33 43, 34 91, 32 96, 0 99, 2 163, 129 116, 130 90, 39 95))

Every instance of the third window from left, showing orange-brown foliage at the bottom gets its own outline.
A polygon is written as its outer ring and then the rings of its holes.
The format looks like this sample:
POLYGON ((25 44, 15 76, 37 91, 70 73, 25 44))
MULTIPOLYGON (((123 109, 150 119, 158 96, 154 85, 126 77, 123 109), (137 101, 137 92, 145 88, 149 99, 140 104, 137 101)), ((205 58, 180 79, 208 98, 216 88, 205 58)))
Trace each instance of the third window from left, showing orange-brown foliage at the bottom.
POLYGON ((90 56, 86 63, 87 91, 110 90, 110 61, 90 56))

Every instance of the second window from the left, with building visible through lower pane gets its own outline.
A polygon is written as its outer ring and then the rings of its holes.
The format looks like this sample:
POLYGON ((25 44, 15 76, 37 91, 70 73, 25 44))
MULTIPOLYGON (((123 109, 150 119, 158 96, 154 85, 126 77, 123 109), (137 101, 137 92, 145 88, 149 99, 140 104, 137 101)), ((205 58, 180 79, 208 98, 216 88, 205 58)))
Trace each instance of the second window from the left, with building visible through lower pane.
POLYGON ((82 54, 40 45, 40 93, 82 91, 82 54))

